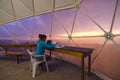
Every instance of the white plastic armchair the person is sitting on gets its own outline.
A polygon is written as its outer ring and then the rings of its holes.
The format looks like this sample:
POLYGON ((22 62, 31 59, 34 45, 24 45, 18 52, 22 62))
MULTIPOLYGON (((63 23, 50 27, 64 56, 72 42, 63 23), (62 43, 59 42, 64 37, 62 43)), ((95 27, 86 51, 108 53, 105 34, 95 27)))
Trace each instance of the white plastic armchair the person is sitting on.
POLYGON ((48 64, 47 64, 47 61, 46 61, 46 57, 45 55, 39 55, 39 56, 35 56, 34 55, 34 52, 31 52, 30 50, 26 49, 26 51, 29 53, 30 55, 30 69, 32 69, 32 77, 34 78, 35 77, 35 72, 36 72, 36 68, 37 68, 37 65, 38 64, 41 64, 43 62, 45 62, 45 65, 46 65, 46 68, 47 68, 47 72, 49 72, 49 69, 48 69, 48 64), (37 60, 38 58, 43 58, 43 60, 37 60))

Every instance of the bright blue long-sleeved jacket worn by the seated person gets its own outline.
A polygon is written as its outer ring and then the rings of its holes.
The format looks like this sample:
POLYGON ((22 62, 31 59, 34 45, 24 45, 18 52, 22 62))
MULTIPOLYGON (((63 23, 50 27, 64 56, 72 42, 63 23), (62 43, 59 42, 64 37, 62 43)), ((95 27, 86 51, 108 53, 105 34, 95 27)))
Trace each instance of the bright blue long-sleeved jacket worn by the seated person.
POLYGON ((44 42, 43 40, 38 40, 37 42, 37 49, 35 51, 35 55, 43 55, 45 52, 45 49, 52 49, 55 45, 50 45, 44 42))

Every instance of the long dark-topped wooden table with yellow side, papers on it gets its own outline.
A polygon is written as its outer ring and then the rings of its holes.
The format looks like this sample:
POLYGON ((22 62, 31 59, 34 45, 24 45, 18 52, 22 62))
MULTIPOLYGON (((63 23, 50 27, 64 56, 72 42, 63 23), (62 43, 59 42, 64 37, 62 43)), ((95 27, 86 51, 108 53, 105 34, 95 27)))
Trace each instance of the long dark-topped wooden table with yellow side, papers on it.
POLYGON ((88 57, 88 73, 91 73, 91 54, 94 49, 81 48, 81 47, 70 47, 65 46, 62 48, 55 48, 54 51, 61 52, 63 54, 73 55, 81 57, 81 80, 84 80, 84 59, 88 57))

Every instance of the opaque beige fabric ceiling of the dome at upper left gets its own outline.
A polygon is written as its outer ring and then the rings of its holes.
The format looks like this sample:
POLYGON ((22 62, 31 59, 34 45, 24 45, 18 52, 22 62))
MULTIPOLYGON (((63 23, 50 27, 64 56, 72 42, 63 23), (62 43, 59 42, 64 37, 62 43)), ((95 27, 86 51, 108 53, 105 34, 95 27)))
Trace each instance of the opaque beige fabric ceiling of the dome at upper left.
POLYGON ((0 0, 0 25, 18 19, 63 10, 82 0, 0 0))

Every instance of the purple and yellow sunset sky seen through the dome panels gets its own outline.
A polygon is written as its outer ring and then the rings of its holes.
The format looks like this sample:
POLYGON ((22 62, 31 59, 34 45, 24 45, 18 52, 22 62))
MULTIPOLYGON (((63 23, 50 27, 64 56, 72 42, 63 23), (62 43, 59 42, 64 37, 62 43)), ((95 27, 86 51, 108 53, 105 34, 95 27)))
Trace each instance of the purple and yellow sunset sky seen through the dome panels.
MULTIPOLYGON (((119 1, 119 0, 118 0, 119 1)), ((51 31, 51 13, 25 18, 16 22, 5 24, 0 28, 1 39, 37 39, 39 33, 54 36, 101 36, 104 31, 109 32, 114 14, 116 0, 83 0, 79 6, 76 19, 76 9, 56 11, 51 31), (95 22, 93 22, 92 20, 95 22), (74 23, 75 20, 75 23, 74 23), (100 27, 98 27, 98 24, 100 27), (102 30, 102 29, 104 30, 102 30)), ((120 2, 118 3, 116 17, 112 27, 113 34, 120 34, 120 2)), ((92 38, 92 37, 91 37, 92 38)))

